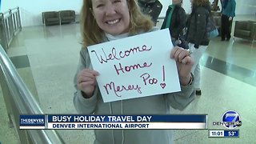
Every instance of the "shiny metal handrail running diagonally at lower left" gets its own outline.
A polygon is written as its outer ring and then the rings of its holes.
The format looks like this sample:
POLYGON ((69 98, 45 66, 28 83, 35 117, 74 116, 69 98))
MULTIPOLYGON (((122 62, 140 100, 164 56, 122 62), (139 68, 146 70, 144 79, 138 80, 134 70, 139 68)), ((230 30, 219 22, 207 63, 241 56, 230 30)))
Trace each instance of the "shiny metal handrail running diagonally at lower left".
MULTIPOLYGON (((19 130, 19 114, 43 114, 22 81, 5 50, 0 45, 0 83, 9 121, 13 122, 21 143, 64 143, 55 130, 19 130), (10 106, 11 103, 11 106, 10 106), (13 115, 14 120, 11 115, 13 115)), ((11 125, 11 123, 10 123, 11 125)))

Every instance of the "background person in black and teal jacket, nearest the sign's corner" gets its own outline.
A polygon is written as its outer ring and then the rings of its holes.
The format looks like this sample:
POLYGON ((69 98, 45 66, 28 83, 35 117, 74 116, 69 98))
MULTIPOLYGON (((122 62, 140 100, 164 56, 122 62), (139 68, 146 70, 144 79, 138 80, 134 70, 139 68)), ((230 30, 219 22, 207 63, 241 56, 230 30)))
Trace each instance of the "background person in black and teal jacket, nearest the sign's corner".
POLYGON ((172 4, 168 6, 166 10, 166 17, 162 23, 161 29, 169 28, 170 35, 174 46, 178 45, 183 48, 182 41, 185 40, 180 36, 183 36, 183 30, 186 26, 186 12, 182 8, 182 0, 172 0, 172 4))

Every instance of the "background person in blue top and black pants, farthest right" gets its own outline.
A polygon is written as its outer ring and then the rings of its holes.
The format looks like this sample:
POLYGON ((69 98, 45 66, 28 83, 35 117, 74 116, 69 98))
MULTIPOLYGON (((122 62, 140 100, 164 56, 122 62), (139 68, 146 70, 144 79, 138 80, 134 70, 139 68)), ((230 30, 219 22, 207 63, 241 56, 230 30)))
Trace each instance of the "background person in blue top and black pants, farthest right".
POLYGON ((222 41, 229 41, 231 38, 231 26, 235 16, 235 0, 222 0, 222 41))

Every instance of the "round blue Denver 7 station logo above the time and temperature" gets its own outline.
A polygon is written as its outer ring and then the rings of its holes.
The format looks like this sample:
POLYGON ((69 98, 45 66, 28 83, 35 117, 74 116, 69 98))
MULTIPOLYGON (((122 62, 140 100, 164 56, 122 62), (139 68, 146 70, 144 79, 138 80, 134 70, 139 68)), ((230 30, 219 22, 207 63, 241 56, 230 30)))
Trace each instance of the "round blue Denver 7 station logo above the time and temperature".
POLYGON ((235 129, 238 126, 242 126, 242 122, 238 112, 234 110, 228 110, 224 114, 222 114, 222 122, 213 122, 213 125, 222 125, 227 129, 235 129))

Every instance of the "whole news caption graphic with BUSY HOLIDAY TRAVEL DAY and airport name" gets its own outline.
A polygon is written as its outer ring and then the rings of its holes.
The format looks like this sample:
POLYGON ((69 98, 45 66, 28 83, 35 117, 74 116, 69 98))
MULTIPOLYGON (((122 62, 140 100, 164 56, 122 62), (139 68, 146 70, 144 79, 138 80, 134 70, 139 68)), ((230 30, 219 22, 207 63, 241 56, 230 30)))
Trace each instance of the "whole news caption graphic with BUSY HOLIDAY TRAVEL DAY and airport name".
POLYGON ((174 129, 206 130, 207 114, 158 115, 20 115, 20 129, 174 129))

